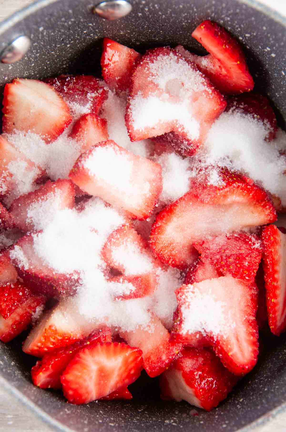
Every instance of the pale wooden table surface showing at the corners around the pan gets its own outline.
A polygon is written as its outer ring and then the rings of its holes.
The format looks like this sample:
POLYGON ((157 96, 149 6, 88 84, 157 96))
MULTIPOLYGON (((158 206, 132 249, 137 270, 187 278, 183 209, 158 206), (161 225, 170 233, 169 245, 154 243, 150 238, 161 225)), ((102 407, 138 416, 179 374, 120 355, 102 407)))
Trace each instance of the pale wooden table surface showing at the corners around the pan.
MULTIPOLYGON (((34 0, 0 0, 0 20, 16 12, 34 0)), ((203 1, 203 0, 202 0, 203 1)), ((222 1, 222 0, 221 0, 222 1)), ((261 3, 279 10, 286 16, 286 0, 260 0, 261 3)), ((34 413, 21 402, 0 388, 0 432, 52 432, 46 423, 42 422, 34 413)), ((280 414, 264 426, 253 432, 285 432, 286 413, 280 414)), ((214 431, 215 432, 215 431, 214 431)))

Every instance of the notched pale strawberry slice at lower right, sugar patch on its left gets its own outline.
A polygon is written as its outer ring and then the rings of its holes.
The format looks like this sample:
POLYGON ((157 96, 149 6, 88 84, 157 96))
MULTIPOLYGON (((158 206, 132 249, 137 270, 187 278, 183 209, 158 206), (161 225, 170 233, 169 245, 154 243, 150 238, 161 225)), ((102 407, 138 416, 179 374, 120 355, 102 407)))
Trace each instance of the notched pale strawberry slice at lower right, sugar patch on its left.
POLYGON ((172 333, 190 342, 201 334, 235 375, 245 375, 258 358, 258 289, 232 276, 221 276, 176 290, 177 319, 172 333))

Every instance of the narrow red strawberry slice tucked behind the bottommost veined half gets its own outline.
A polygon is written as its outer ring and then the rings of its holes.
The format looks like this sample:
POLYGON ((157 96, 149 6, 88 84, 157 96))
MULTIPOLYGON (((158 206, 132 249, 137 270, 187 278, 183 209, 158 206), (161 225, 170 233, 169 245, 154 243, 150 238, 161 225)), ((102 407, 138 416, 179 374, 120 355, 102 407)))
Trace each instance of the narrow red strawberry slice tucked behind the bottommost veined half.
POLYGON ((86 339, 55 349, 44 355, 31 369, 32 381, 40 388, 62 388, 61 375, 68 363, 82 348, 96 343, 111 342, 111 331, 103 327, 86 339))

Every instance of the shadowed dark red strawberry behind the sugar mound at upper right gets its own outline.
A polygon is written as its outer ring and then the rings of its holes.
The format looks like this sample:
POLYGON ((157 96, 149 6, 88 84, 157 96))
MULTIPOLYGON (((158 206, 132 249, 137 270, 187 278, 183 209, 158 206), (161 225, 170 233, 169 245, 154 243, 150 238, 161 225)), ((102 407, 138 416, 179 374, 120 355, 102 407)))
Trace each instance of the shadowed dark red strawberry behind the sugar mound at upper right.
POLYGON ((269 100, 259 93, 246 93, 227 101, 226 111, 241 111, 250 114, 252 118, 261 121, 269 129, 267 141, 274 140, 278 130, 277 119, 269 100))

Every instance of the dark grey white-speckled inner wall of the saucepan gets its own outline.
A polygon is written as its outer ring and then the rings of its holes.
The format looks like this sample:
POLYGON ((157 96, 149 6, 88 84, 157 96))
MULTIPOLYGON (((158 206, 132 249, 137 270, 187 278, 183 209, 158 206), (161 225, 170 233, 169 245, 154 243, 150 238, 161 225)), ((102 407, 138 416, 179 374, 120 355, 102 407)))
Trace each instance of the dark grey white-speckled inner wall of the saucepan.
MULTIPOLYGON (((286 21, 255 1, 131 0, 133 10, 118 21, 91 12, 91 0, 40 1, 0 25, 0 47, 18 35, 31 37, 28 55, 0 66, 1 89, 21 76, 43 78, 59 73, 99 73, 101 41, 116 39, 137 50, 183 44, 200 51, 191 32, 203 19, 220 22, 241 41, 256 90, 286 119, 286 21), (285 68, 285 69, 284 69, 285 68)), ((59 430, 80 432, 233 432, 248 430, 286 407, 286 338, 270 340, 255 370, 211 413, 187 403, 163 403, 156 380, 143 375, 131 386, 132 402, 67 404, 61 394, 34 387, 31 358, 21 340, 0 345, 0 383, 59 430), (196 415, 194 415, 196 414, 196 415)))

